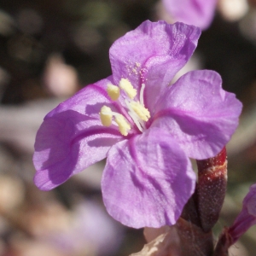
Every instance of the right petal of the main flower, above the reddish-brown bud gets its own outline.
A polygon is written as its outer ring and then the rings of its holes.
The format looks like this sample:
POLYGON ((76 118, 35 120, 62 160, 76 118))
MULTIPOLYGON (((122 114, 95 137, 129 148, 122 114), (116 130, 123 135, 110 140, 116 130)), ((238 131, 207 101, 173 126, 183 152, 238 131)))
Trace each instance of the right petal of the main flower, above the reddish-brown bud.
POLYGON ((168 129, 189 157, 213 157, 236 130, 242 107, 221 84, 210 70, 186 73, 157 103, 152 125, 168 129))

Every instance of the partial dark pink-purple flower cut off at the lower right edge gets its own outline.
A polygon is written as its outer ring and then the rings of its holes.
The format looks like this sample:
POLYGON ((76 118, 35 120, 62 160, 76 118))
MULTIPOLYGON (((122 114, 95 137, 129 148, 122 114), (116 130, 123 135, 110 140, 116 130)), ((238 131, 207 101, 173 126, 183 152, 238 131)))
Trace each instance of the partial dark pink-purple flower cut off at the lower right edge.
POLYGON ((227 230, 231 243, 234 244, 254 224, 256 224, 256 184, 251 186, 249 193, 242 201, 241 212, 227 230))

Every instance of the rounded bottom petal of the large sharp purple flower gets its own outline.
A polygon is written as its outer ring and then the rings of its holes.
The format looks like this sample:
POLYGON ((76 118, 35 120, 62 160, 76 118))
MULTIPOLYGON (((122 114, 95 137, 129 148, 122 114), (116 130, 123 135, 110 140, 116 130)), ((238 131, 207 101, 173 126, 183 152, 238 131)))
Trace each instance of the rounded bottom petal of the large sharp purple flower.
POLYGON ((108 213, 122 224, 175 224, 194 190, 189 158, 162 129, 149 129, 108 151, 102 196, 108 213))

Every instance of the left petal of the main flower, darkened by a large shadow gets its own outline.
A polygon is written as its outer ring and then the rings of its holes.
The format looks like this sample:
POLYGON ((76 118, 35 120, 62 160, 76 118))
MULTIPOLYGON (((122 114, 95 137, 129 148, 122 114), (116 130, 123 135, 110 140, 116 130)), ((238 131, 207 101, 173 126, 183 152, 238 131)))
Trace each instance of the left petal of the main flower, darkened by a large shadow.
MULTIPOLYGON (((109 80, 90 84, 45 118, 38 130, 33 155, 39 189, 53 189, 68 177, 106 157, 108 149, 123 139, 116 126, 104 127, 102 105, 110 105, 104 90, 109 80)), ((111 105, 113 110, 114 105, 111 105)))

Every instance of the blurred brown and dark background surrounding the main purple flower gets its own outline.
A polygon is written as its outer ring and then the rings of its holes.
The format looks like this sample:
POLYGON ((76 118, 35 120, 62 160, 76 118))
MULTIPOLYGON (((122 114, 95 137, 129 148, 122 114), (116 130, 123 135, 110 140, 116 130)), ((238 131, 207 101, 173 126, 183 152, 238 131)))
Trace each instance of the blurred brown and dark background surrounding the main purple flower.
MULTIPOLYGON (((33 143, 44 115, 86 84, 111 74, 108 49, 143 20, 173 20, 158 0, 0 1, 0 255, 129 255, 143 230, 108 216, 101 195, 104 162, 49 192, 32 183, 33 143)), ((229 183, 216 236, 256 183, 256 1, 219 0, 184 70, 221 74, 243 102, 228 145, 229 183)), ((184 72, 183 70, 183 72, 184 72)), ((256 229, 231 248, 254 255, 256 229)))

